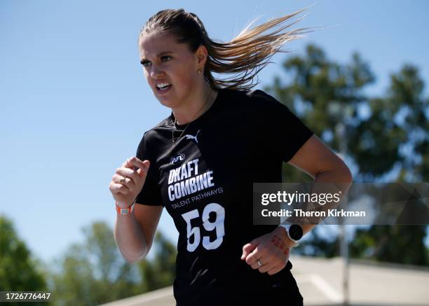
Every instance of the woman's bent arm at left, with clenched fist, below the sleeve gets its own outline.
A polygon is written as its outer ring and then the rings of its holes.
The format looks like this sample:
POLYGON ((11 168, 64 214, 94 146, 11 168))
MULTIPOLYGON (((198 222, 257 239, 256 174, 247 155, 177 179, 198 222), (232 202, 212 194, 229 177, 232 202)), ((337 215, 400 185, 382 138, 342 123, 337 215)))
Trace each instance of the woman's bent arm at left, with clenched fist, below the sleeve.
MULTIPOLYGON (((118 206, 128 208, 143 188, 149 169, 149 160, 132 157, 123 162, 112 176, 109 189, 118 206), (135 170, 137 167, 137 170, 135 170), (125 177, 125 181, 122 179, 125 177), (128 203, 128 204, 127 204, 128 203)), ((116 213, 114 237, 122 256, 129 263, 147 256, 151 249, 162 206, 135 203, 130 214, 116 213)))

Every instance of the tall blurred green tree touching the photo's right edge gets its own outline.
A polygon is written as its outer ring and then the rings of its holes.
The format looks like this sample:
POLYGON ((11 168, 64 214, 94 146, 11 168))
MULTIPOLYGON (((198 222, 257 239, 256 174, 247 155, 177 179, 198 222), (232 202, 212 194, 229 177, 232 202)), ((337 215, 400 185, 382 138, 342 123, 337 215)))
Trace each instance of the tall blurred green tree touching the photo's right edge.
MULTIPOLYGON (((399 165, 400 172, 395 181, 429 181, 429 98, 423 97, 424 83, 418 69, 404 65, 390 76, 390 87, 386 97, 369 102, 372 116, 364 120, 352 141, 357 141, 353 154, 360 169, 371 174, 369 155, 376 151, 377 158, 384 160, 385 167, 399 165), (402 114, 402 116, 400 116, 402 114), (370 143, 373 146, 364 153, 359 133, 373 130, 370 143), (392 145, 393 144, 393 145, 392 145), (405 150, 404 150, 405 149, 405 150)), ((375 174, 383 174, 383 167, 374 167, 375 174)), ((423 244, 426 225, 372 225, 368 230, 357 230, 350 244, 350 253, 355 257, 373 258, 395 263, 429 265, 429 257, 423 244), (412 250, 410 252, 409 250, 412 250)))

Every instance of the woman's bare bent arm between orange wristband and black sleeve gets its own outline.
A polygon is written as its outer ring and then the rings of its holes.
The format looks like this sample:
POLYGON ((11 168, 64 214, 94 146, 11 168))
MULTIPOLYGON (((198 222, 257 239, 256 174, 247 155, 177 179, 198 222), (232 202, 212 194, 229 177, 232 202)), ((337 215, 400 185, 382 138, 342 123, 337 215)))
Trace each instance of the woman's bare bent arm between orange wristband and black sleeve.
POLYGON ((114 236, 116 244, 128 263, 145 258, 151 249, 162 206, 135 203, 128 215, 116 213, 114 236))

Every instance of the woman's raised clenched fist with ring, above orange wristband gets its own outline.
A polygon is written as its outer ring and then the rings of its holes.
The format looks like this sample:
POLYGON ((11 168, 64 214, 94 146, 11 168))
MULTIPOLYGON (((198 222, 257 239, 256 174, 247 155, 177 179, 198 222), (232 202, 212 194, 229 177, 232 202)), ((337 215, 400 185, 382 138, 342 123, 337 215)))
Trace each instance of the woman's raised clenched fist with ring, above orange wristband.
POLYGON ((111 177, 109 189, 118 206, 128 208, 142 191, 149 169, 149 160, 139 160, 136 157, 125 160, 111 177), (135 167, 138 169, 135 170, 135 167), (125 180, 123 179, 125 177, 125 180))

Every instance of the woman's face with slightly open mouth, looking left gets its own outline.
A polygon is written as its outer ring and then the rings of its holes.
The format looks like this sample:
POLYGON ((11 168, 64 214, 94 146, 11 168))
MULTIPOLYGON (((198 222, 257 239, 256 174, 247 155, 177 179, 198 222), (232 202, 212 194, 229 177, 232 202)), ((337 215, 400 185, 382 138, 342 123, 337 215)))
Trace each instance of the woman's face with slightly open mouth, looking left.
POLYGON ((197 72, 198 50, 192 53, 184 43, 177 43, 172 34, 154 32, 140 37, 139 54, 144 76, 161 104, 175 108, 193 101, 200 84, 198 78, 202 77, 197 72), (169 85, 166 89, 158 88, 165 84, 169 85))

